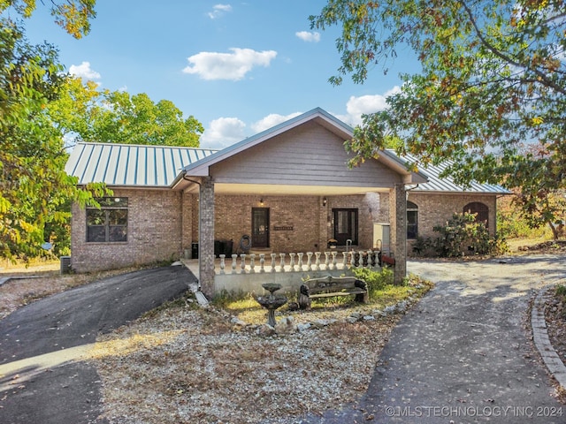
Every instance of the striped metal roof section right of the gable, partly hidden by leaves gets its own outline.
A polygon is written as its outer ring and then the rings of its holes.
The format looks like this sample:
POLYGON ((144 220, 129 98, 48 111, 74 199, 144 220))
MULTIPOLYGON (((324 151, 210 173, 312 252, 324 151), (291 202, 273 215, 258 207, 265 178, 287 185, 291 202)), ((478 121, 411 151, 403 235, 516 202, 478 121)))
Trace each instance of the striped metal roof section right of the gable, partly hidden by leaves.
MULTIPOLYGON (((408 163, 418 163, 417 157, 405 155, 403 159, 408 163)), ((464 187, 455 184, 451 177, 440 178, 443 170, 447 169, 450 161, 441 163, 440 165, 427 165, 420 168, 419 172, 428 178, 427 183, 419 184, 417 188, 412 189, 415 192, 435 192, 435 193, 487 193, 487 194, 510 194, 509 190, 501 186, 493 184, 480 184, 475 181, 470 182, 470 186, 464 187)))

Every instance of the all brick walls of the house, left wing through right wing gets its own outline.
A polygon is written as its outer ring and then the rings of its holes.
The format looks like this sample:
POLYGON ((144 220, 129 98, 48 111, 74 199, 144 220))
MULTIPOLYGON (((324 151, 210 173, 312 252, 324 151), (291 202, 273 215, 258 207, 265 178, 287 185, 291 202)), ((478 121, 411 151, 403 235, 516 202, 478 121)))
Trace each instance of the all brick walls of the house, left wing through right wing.
MULTIPOLYGON (((79 272, 179 258, 199 239, 199 195, 171 190, 115 189, 127 197, 128 240, 125 243, 86 243, 86 212, 73 206, 72 267, 79 272)), ((358 209, 359 243, 373 248, 373 223, 389 223, 388 193, 350 196, 236 196, 216 194, 214 239, 232 239, 234 253, 244 234, 251 235, 251 209, 270 208, 272 252, 316 252, 333 237, 333 208, 358 209), (260 199, 264 204, 260 204, 260 199), (274 230, 274 227, 282 229, 274 230), (292 227, 292 230, 290 229, 292 227)), ((433 236, 464 205, 481 201, 489 208, 489 228, 495 233, 495 196, 409 192, 418 206, 418 233, 433 236)), ((410 243, 410 241, 409 241, 410 243)), ((410 252, 410 249, 409 249, 410 252)))

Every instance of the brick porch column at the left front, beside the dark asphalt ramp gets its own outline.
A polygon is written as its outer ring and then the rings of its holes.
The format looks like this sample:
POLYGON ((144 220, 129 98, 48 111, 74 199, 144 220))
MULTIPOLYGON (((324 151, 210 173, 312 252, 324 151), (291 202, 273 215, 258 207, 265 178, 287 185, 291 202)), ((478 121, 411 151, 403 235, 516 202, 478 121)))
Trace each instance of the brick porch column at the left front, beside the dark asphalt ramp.
POLYGON ((214 295, 214 183, 205 177, 200 186, 199 280, 207 298, 214 295))

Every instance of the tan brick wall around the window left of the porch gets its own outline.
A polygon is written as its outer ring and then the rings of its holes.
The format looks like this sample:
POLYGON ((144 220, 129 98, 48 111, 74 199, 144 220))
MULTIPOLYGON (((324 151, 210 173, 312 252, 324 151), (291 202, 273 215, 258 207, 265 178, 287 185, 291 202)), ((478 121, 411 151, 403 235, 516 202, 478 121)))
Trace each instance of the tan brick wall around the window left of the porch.
POLYGON ((86 210, 74 205, 71 235, 73 269, 78 272, 117 269, 180 257, 183 248, 182 193, 114 189, 114 197, 128 198, 127 241, 87 243, 86 210))

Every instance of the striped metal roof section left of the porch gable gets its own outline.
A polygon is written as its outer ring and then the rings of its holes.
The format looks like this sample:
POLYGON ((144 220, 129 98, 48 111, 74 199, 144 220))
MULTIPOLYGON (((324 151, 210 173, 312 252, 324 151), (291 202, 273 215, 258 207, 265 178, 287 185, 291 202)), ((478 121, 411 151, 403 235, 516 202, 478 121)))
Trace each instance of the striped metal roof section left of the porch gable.
POLYGON ((78 184, 169 187, 184 167, 212 155, 210 148, 173 148, 80 142, 65 165, 78 184))

